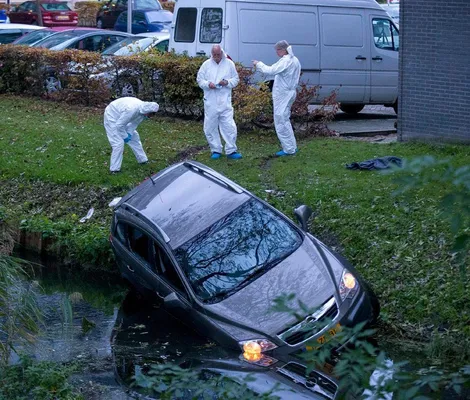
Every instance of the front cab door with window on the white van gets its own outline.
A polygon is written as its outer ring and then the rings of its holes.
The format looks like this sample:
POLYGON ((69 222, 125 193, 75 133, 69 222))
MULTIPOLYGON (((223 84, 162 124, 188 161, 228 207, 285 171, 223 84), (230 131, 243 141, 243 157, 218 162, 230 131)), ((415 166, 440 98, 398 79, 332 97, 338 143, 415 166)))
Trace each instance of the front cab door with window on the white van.
POLYGON ((398 97, 398 29, 388 16, 370 15, 371 103, 393 104, 398 97))

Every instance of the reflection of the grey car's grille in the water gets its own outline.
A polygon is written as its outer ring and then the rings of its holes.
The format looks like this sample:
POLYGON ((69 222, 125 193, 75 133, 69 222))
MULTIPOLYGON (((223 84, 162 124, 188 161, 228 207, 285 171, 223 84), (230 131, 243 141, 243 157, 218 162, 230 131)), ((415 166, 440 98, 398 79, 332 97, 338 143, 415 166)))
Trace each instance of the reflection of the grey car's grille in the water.
POLYGON ((317 371, 312 371, 307 375, 307 369, 303 365, 294 362, 287 363, 278 368, 277 371, 325 399, 335 398, 338 385, 317 371))

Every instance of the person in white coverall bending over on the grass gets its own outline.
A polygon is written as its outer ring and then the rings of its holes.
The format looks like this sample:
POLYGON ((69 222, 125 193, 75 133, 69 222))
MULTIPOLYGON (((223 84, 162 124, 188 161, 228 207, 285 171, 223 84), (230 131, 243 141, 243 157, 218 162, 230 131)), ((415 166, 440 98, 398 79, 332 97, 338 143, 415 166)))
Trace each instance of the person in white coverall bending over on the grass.
POLYGON ((104 128, 113 151, 109 170, 117 173, 121 170, 124 144, 134 152, 139 164, 148 162, 142 147, 137 126, 147 117, 158 111, 158 104, 145 102, 135 97, 121 97, 111 102, 104 111, 104 128))

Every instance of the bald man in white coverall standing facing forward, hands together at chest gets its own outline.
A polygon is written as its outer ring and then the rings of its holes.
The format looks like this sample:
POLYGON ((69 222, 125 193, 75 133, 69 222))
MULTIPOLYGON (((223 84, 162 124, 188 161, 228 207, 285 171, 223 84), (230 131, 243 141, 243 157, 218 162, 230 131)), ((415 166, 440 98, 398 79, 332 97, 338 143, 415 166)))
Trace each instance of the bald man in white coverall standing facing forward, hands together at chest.
POLYGON ((237 126, 233 119, 232 88, 238 85, 235 64, 229 60, 219 45, 212 46, 211 58, 206 60, 197 73, 197 84, 204 91, 204 133, 211 149, 211 158, 217 160, 225 154, 237 160, 237 126), (219 135, 220 131, 220 135, 219 135))

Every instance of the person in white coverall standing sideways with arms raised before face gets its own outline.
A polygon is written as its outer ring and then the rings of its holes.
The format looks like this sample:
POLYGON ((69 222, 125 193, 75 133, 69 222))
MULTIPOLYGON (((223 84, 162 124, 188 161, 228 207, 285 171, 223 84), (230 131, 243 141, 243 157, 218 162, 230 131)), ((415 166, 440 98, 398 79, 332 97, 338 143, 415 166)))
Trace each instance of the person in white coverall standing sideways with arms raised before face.
POLYGON ((276 155, 281 157, 297 152, 294 130, 290 123, 290 109, 297 95, 300 62, 294 56, 292 47, 285 40, 277 42, 274 48, 281 58, 277 63, 268 66, 261 61, 253 60, 253 65, 263 74, 274 75, 274 127, 282 146, 282 150, 278 151, 276 155))

